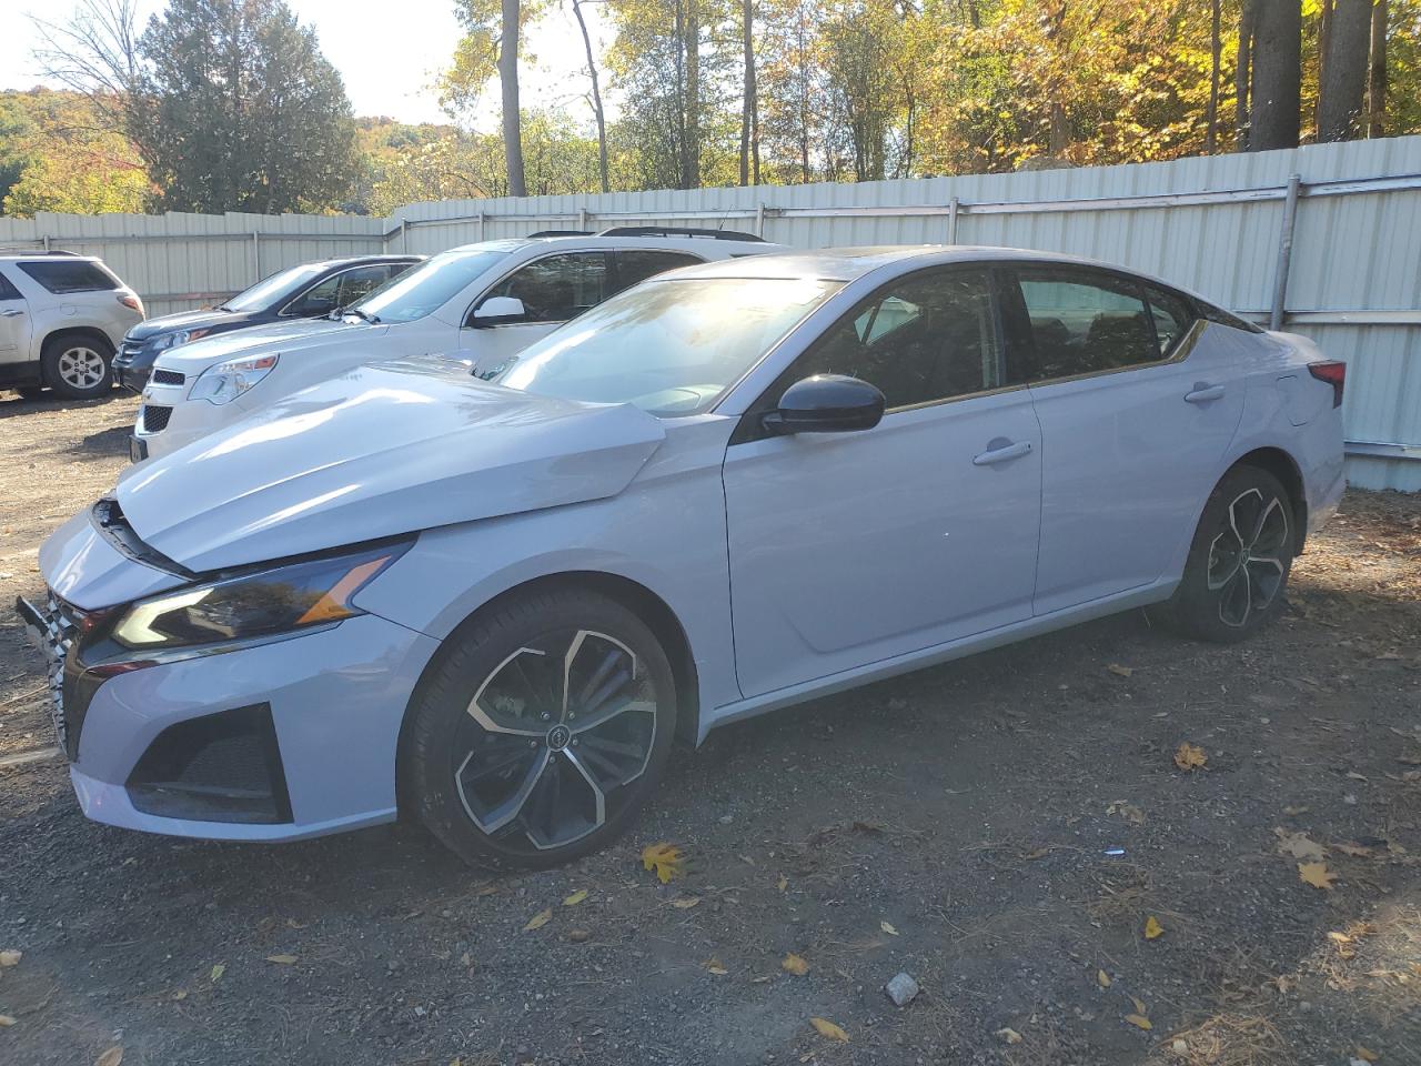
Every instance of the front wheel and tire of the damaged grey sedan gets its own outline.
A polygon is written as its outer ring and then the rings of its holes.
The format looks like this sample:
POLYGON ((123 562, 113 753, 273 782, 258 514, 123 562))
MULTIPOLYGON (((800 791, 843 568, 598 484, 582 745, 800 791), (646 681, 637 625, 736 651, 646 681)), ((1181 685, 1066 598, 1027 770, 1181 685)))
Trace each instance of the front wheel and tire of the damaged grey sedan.
POLYGON ((671 664, 632 611, 577 588, 516 596, 459 627, 421 684, 401 802, 470 864, 558 866, 635 820, 675 719, 671 664))

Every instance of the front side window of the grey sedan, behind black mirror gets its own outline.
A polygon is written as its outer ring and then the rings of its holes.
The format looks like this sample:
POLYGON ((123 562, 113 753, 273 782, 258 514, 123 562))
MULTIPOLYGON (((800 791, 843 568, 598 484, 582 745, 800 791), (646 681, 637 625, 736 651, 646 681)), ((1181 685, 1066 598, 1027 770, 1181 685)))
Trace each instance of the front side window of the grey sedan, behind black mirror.
POLYGON ((811 374, 863 378, 890 408, 996 388, 1000 358, 986 274, 935 270, 885 286, 830 327, 780 388, 811 374))

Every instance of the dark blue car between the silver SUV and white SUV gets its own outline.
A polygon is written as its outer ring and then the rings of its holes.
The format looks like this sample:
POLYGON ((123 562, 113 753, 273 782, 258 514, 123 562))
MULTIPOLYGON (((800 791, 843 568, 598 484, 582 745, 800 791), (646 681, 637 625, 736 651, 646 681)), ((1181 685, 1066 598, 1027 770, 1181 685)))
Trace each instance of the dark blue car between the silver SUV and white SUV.
POLYGON ((114 374, 124 388, 141 392, 153 360, 169 348, 283 318, 318 318, 348 307, 422 260, 423 256, 352 256, 279 270, 217 307, 139 323, 124 337, 114 374))

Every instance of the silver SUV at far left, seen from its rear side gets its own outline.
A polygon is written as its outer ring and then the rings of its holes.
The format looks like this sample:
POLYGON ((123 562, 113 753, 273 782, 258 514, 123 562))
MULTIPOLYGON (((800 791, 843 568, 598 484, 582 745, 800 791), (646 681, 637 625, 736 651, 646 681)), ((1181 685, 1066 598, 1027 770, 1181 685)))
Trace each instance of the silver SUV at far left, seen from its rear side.
POLYGON ((92 256, 0 254, 0 388, 102 397, 114 351, 141 321, 138 293, 92 256))

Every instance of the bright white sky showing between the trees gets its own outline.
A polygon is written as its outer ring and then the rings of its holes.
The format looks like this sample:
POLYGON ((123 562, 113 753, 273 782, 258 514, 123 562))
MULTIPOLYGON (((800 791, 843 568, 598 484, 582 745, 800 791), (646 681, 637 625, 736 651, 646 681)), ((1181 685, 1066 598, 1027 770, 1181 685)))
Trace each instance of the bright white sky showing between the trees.
MULTIPOLYGON (((31 51, 37 34, 31 21, 38 16, 63 21, 70 0, 53 7, 38 0, 6 0, 0 28, 0 88, 30 88, 43 81, 31 51), (16 14, 10 14, 14 11, 16 14)), ((321 51, 345 80, 345 92, 357 115, 391 115, 404 122, 448 122, 431 88, 448 64, 459 40, 459 23, 452 0, 399 0, 381 7, 374 17, 355 14, 361 4, 351 0, 287 0, 303 24, 315 28, 321 51)), ((161 0, 138 0, 139 27, 162 10, 161 0)), ((593 47, 601 61, 607 41, 600 27, 598 4, 583 11, 593 31, 593 47)), ((524 43, 522 102, 524 108, 566 108, 581 125, 591 125, 585 102, 588 81, 583 38, 571 4, 561 0, 531 30, 524 43)), ((497 88, 487 95, 489 114, 476 125, 497 128, 497 88)), ((608 108, 611 111, 611 108, 608 108)))

